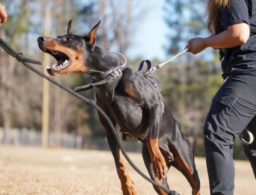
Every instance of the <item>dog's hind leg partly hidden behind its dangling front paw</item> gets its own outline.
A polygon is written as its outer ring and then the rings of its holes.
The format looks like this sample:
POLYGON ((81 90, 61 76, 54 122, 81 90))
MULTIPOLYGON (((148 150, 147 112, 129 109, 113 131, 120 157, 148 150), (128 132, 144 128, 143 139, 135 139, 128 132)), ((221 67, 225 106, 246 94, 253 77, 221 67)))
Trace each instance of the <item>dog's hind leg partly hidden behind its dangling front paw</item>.
MULTIPOLYGON (((167 177, 165 177, 165 179, 158 179, 158 177, 155 177, 155 173, 154 173, 154 170, 152 168, 150 153, 148 152, 148 147, 146 147, 146 145, 142 146, 142 157, 143 157, 146 169, 148 169, 148 173, 149 173, 151 179, 156 181, 156 183, 158 183, 159 185, 165 186, 165 188, 169 189, 169 185, 167 183, 167 177)), ((162 189, 160 189, 156 186, 154 186, 154 189, 160 195, 166 195, 167 194, 165 191, 163 191, 162 189)), ((177 192, 175 192, 173 190, 171 190, 169 194, 170 195, 179 195, 177 192)))

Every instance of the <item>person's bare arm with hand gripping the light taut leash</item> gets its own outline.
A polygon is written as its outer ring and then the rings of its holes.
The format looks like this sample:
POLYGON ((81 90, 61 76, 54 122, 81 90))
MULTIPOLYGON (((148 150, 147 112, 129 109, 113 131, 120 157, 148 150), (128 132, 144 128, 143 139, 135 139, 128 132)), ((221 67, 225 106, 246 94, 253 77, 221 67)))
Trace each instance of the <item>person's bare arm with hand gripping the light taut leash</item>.
POLYGON ((207 47, 212 48, 230 48, 246 43, 249 38, 250 29, 247 23, 240 23, 228 26, 227 29, 218 35, 211 35, 206 38, 194 38, 188 41, 188 46, 192 48, 187 52, 198 54, 207 47))

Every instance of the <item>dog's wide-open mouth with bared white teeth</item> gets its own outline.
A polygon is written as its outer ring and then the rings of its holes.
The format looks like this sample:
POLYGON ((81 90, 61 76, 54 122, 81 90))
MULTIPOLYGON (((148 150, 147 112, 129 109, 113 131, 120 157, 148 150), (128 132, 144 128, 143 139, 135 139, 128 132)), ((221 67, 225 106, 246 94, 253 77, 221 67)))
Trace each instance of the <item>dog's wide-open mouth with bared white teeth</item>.
POLYGON ((60 71, 61 69, 65 69, 70 65, 70 58, 62 52, 49 50, 47 48, 43 48, 43 52, 50 54, 57 60, 57 63, 53 64, 52 67, 47 65, 47 69, 51 69, 52 71, 60 71))

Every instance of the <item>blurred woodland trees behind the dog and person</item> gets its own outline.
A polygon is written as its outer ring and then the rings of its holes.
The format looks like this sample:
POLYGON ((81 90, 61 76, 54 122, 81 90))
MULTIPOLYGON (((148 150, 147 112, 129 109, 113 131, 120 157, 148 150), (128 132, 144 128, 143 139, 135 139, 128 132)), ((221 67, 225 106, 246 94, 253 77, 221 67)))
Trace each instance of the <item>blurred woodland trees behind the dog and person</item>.
MULTIPOLYGON (((9 18, 1 26, 0 36, 15 50, 36 60, 43 60, 42 52, 37 47, 37 37, 43 35, 45 7, 50 7, 51 37, 66 33, 69 20, 73 20, 76 34, 86 35, 100 18, 102 23, 98 29, 97 44, 106 50, 126 54, 138 25, 146 20, 146 12, 154 11, 154 7, 150 7, 151 2, 3 0, 2 4, 8 7, 9 18)), ((165 0, 163 20, 169 28, 169 34, 163 52, 166 51, 168 56, 181 52, 192 37, 208 35, 203 7, 200 0, 165 0)), ((0 55, 0 126, 5 133, 11 128, 23 127, 40 131, 42 79, 2 49, 0 55)), ((144 59, 127 60, 131 67, 137 69, 144 59)), ((161 62, 155 59, 152 63, 156 65, 161 62)), ((37 68, 42 71, 42 67, 37 68)), ((200 145, 202 126, 211 98, 223 82, 217 52, 207 48, 203 55, 182 54, 158 69, 154 76, 162 82, 161 94, 179 120, 182 131, 190 137, 194 146, 200 145)), ((70 73, 65 77, 57 75, 54 79, 75 88, 91 82, 92 78, 85 74, 70 73)), ((81 94, 95 98, 94 90, 81 94)), ((104 130, 93 107, 53 84, 50 84, 49 97, 50 131, 104 137, 104 130)))

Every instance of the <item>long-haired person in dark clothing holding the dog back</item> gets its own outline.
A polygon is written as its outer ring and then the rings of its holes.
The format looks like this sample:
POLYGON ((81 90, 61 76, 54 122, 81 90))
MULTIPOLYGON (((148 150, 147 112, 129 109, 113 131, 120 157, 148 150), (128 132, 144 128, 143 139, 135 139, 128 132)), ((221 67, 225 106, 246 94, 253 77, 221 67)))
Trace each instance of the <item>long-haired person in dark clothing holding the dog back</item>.
POLYGON ((244 152, 256 177, 256 1, 207 0, 209 37, 188 41, 188 52, 219 48, 223 85, 203 126, 211 194, 234 194, 232 145, 249 128, 255 140, 244 152), (254 118, 255 117, 255 118, 254 118))

